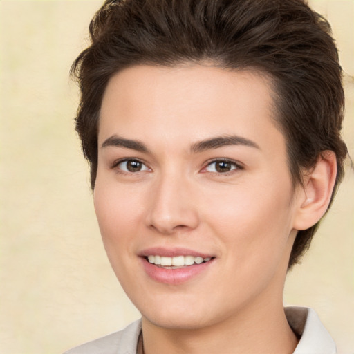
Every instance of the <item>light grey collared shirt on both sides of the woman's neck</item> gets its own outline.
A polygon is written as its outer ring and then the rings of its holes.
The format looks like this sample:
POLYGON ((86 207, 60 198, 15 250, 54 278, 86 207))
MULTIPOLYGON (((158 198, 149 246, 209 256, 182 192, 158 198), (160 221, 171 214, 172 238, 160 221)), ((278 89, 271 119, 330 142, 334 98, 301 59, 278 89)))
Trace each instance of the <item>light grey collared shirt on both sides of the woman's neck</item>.
MULTIPOLYGON (((335 342, 312 308, 287 307, 286 318, 300 337, 293 354, 335 354, 335 342)), ((124 330, 66 351, 64 354, 136 354, 141 319, 124 330)))

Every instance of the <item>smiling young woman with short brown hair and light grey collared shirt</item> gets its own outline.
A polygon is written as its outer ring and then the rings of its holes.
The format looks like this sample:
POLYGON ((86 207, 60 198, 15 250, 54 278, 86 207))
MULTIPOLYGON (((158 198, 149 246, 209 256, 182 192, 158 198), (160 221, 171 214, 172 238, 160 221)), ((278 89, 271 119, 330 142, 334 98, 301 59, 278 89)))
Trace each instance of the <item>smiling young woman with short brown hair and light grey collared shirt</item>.
POLYGON ((142 319, 66 353, 335 353, 283 308, 343 175, 344 93, 301 0, 106 1, 74 63, 102 239, 142 319))

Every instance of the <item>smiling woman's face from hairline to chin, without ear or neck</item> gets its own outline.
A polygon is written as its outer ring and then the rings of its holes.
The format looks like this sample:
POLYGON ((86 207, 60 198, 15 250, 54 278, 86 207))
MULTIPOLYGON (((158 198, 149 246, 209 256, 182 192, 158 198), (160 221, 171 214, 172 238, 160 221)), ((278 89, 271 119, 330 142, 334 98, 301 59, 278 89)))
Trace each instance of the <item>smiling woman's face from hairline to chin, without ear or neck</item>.
POLYGON ((296 196, 259 73, 135 66, 111 78, 94 203, 152 324, 200 328, 282 301, 296 196))

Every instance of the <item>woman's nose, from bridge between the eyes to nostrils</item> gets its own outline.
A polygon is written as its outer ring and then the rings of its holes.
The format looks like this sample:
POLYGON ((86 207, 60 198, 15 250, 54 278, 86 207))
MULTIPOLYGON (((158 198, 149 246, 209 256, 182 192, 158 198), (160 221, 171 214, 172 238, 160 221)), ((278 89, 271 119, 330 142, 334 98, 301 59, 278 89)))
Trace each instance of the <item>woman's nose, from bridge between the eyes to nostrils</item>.
POLYGON ((147 226, 160 234, 194 230, 199 223, 192 186, 183 178, 171 176, 156 180, 149 193, 147 226))

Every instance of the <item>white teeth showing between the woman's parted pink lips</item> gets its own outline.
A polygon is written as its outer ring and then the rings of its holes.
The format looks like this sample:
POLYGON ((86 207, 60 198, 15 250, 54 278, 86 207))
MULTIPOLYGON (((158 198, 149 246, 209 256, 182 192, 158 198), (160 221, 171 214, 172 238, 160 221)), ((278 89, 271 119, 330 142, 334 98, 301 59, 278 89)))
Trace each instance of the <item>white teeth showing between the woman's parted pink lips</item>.
POLYGON ((158 268, 164 269, 180 269, 190 267, 192 265, 199 265, 202 263, 207 263, 214 259, 215 257, 194 257, 192 255, 179 255, 176 257, 166 257, 158 254, 151 254, 145 259, 158 268))

